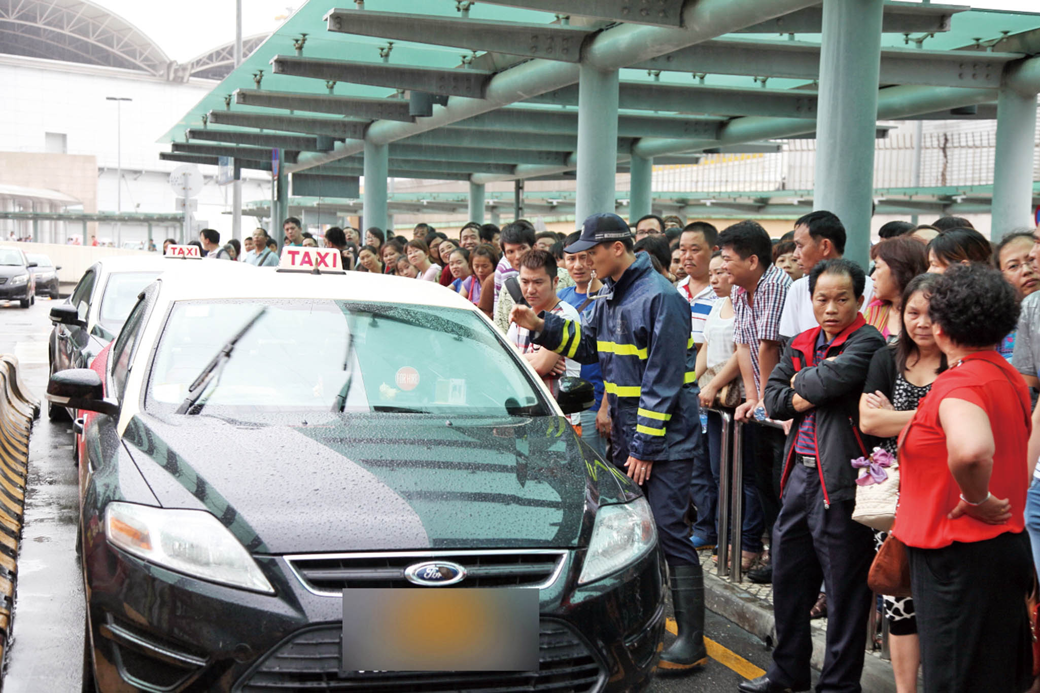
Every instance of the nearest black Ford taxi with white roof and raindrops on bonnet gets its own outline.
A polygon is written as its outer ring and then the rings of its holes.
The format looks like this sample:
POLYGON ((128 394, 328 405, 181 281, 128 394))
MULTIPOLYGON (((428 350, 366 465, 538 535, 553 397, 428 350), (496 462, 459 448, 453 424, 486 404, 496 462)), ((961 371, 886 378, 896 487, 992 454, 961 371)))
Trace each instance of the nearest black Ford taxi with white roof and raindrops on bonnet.
POLYGON ((646 499, 564 416, 589 406, 590 383, 562 382, 553 400, 476 306, 440 287, 189 271, 142 292, 103 369, 48 387, 56 405, 96 412, 80 460, 84 681, 242 693, 649 685, 665 566, 646 499), (457 643, 456 612, 402 607, 442 590, 536 665, 357 664, 359 638, 457 643), (530 628, 477 608, 487 592, 534 597, 530 628), (344 621, 346 607, 374 609, 379 628, 344 621))

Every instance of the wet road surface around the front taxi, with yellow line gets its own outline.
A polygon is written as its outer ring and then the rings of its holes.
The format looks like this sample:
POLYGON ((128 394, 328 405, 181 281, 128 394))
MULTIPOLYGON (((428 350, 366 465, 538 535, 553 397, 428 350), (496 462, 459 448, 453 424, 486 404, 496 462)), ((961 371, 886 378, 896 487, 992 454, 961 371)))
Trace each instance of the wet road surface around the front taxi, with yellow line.
MULTIPOLYGON (((51 304, 49 299, 37 299, 22 310, 18 303, 0 301, 0 353, 19 357, 22 379, 41 399, 48 377, 51 304)), ((72 422, 51 422, 46 403, 43 408, 29 442, 25 527, 4 693, 79 691, 81 686, 83 587, 75 551, 78 501, 72 422)), ((769 666, 765 644, 725 618, 708 612, 706 633, 713 658, 708 666, 696 673, 660 674, 649 691, 735 691, 739 681, 769 666)), ((666 634, 666 645, 672 637, 666 634)))

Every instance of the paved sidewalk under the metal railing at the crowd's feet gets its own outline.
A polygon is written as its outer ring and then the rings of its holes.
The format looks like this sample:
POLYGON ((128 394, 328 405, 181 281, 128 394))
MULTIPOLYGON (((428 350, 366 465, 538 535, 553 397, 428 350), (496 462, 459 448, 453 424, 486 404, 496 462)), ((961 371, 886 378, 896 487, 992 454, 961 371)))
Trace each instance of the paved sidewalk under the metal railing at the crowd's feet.
MULTIPOLYGON (((708 610, 727 618, 745 631, 761 638, 770 646, 776 642, 776 619, 773 615, 773 586, 756 585, 747 577, 739 584, 720 578, 711 552, 700 552, 704 568, 704 599, 708 610)), ((817 671, 824 664, 827 619, 812 621, 812 668, 817 671)), ((863 634, 864 644, 866 634, 863 634)), ((892 665, 881 659, 880 650, 867 651, 860 678, 864 691, 869 693, 895 693, 892 665)))

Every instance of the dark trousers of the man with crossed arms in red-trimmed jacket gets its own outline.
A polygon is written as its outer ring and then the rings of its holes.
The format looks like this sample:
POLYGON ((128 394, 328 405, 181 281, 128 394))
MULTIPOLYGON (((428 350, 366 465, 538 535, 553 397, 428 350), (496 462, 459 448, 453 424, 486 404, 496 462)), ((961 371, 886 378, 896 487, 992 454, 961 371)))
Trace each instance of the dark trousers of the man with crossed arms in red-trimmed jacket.
POLYGON ((874 560, 874 534, 853 522, 853 501, 824 508, 815 468, 796 463, 773 528, 773 609, 777 646, 769 677, 808 690, 812 637, 809 611, 827 588, 827 652, 817 691, 859 693, 872 593, 866 574, 874 560))

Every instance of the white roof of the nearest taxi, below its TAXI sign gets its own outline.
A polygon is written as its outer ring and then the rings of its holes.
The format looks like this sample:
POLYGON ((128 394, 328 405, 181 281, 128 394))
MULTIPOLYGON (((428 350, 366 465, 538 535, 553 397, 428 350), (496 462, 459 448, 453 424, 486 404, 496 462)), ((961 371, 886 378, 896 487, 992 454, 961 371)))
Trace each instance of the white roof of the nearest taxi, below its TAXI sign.
POLYGON ((311 272, 278 271, 269 267, 253 267, 245 263, 217 260, 171 260, 183 268, 170 269, 159 277, 162 285, 159 300, 181 301, 199 299, 235 298, 330 298, 338 300, 412 303, 439 308, 477 310, 459 293, 434 282, 418 278, 373 274, 370 272, 311 272), (200 265, 217 265, 196 267, 200 265), (244 271, 234 271, 238 266, 244 271), (206 271, 206 281, 198 278, 199 270, 206 271))

